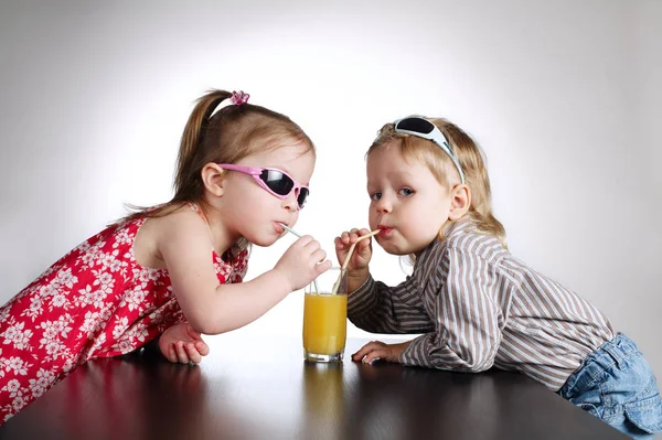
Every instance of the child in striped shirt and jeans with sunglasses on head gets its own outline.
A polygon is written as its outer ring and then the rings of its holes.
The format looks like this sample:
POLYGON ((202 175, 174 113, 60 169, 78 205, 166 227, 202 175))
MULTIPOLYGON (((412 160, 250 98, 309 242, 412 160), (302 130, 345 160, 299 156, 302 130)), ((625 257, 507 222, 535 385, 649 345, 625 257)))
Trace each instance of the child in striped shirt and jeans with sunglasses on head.
MULTIPOLYGON (((460 372, 519 371, 617 429, 662 431, 662 399, 634 342, 588 301, 514 258, 492 214, 476 142, 445 119, 386 124, 367 151, 370 227, 388 254, 415 260, 396 287, 373 280, 371 240, 349 269, 348 315, 374 333, 423 333, 371 342, 354 361, 460 372)), ((335 238, 339 261, 367 229, 335 238)))

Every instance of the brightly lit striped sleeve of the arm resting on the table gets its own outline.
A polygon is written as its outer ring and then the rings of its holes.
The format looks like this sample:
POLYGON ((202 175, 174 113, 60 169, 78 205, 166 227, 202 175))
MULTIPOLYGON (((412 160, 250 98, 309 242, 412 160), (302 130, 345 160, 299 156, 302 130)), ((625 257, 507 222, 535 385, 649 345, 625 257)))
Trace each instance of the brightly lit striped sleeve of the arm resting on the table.
POLYGON ((462 249, 448 249, 446 282, 438 291, 438 326, 415 340, 401 354, 405 365, 482 372, 494 364, 501 342, 499 276, 493 264, 462 249))

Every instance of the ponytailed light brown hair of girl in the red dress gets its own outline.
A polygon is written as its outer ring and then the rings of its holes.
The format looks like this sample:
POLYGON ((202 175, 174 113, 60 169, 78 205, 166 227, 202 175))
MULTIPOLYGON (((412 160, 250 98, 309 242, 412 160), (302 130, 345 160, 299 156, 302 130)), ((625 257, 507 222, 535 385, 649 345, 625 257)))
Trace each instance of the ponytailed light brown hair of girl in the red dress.
MULTIPOLYGON (((197 204, 205 212, 209 206, 204 202, 201 172, 210 162, 236 163, 258 151, 277 149, 285 140, 306 147, 302 154, 309 151, 314 154, 310 138, 285 115, 247 103, 228 105, 214 112, 231 96, 229 92, 211 89, 196 100, 180 142, 173 197, 157 207, 129 205, 134 212, 119 222, 141 216, 162 217, 186 203, 197 204)), ((247 243, 239 243, 239 247, 246 246, 247 243)))

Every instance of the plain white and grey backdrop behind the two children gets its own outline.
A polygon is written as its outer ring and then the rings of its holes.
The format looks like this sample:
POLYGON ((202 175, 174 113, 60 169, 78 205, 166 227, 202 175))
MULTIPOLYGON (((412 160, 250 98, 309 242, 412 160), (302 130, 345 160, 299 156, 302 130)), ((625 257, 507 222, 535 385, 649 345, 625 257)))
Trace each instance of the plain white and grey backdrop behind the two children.
MULTIPOLYGON (((413 112, 458 124, 487 152, 511 251, 606 312, 662 377, 662 2, 42 3, 0 6, 2 302, 122 203, 169 200, 193 100, 244 89, 317 143, 297 229, 329 253, 367 224, 376 130, 413 112)), ((248 278, 290 243, 254 248, 248 278)), ((397 258, 373 261, 404 279, 397 258)), ((238 331, 298 335, 301 314, 295 292, 238 331)))

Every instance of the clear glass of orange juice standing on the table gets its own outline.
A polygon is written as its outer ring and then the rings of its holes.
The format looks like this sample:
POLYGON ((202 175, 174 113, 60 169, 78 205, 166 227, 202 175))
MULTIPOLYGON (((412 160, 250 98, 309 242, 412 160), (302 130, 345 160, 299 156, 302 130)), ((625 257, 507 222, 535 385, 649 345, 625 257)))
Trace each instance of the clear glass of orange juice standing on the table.
POLYGON ((305 289, 303 358, 342 362, 348 331, 348 271, 332 267, 305 289))

